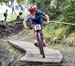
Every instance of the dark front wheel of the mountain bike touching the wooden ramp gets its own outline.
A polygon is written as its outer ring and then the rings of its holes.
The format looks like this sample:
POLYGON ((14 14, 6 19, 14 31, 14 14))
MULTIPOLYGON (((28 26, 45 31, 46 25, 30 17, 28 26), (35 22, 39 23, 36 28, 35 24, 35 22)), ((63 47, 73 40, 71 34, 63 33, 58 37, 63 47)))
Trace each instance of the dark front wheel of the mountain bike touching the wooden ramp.
POLYGON ((43 39, 40 32, 37 33, 37 38, 38 38, 40 53, 42 54, 43 58, 45 58, 44 49, 43 49, 43 39))

